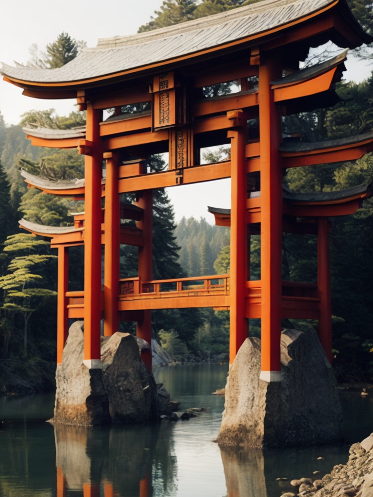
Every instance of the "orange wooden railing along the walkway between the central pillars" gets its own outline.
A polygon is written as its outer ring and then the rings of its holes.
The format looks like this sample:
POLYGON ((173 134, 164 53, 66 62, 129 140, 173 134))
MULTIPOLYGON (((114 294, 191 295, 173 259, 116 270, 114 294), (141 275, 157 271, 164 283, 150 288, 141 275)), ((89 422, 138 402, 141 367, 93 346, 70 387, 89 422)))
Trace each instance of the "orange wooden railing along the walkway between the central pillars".
POLYGON ((124 278, 120 280, 119 299, 229 295, 229 280, 229 274, 151 281, 124 278))

